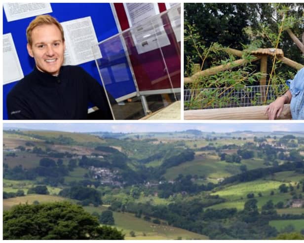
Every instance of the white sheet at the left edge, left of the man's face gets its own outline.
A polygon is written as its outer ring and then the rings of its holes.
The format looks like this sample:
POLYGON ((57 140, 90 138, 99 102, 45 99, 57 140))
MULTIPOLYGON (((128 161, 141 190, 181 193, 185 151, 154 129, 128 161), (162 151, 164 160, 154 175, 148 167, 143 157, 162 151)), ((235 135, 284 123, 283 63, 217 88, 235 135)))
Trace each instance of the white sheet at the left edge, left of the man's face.
POLYGON ((3 35, 3 84, 24 77, 11 33, 3 35))

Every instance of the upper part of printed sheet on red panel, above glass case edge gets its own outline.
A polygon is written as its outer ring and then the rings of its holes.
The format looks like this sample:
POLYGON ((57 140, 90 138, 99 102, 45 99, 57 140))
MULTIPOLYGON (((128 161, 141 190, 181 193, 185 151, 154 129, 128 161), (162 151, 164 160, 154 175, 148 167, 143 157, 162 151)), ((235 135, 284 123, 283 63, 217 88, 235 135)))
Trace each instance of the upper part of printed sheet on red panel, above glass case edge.
POLYGON ((157 3, 123 3, 123 6, 130 27, 151 16, 159 14, 157 3))

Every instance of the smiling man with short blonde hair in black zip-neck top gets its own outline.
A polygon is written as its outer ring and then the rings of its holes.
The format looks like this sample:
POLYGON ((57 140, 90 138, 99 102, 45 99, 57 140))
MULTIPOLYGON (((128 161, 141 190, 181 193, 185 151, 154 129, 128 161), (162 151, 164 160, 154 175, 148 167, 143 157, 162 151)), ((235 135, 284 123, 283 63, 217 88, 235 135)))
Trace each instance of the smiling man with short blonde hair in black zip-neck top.
POLYGON ((55 18, 37 16, 26 35, 36 65, 7 95, 9 119, 87 119, 89 103, 99 108, 101 119, 113 119, 103 87, 82 68, 62 66, 64 32, 55 18))

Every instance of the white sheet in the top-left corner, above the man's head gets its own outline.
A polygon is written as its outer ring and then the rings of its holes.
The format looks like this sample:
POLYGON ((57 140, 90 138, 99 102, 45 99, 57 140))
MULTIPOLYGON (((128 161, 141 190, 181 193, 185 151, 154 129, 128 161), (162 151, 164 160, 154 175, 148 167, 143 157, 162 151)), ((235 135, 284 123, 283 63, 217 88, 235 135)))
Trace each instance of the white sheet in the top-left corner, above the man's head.
POLYGON ((7 22, 51 13, 50 3, 3 3, 7 22))

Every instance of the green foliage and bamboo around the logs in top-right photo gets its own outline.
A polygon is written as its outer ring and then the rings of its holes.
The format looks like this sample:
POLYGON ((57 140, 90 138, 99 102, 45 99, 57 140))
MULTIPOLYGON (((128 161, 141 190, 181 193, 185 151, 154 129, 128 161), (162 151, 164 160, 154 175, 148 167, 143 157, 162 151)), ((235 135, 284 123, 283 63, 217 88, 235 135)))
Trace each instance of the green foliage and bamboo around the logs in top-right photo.
MULTIPOLYGON (((261 93, 252 93, 246 87, 256 85, 262 75, 258 72, 259 66, 252 62, 254 57, 245 52, 242 56, 245 64, 235 67, 235 57, 228 54, 225 47, 248 51, 281 48, 285 56, 301 63, 299 50, 286 30, 292 28, 297 36, 302 35, 303 9, 302 3, 186 3, 185 75, 194 73, 195 64, 199 65, 199 70, 228 64, 234 67, 216 74, 196 76, 193 83, 186 85, 191 94, 190 100, 185 102, 185 109, 240 105, 239 98, 232 95, 240 90, 244 92, 243 99, 253 105, 272 102, 262 101, 261 93)), ((275 96, 280 96, 287 87, 281 89, 279 85, 284 86, 285 80, 294 76, 294 70, 282 66, 275 56, 268 58, 269 63, 267 81, 275 96)), ((268 92, 269 86, 266 94, 268 92)))

